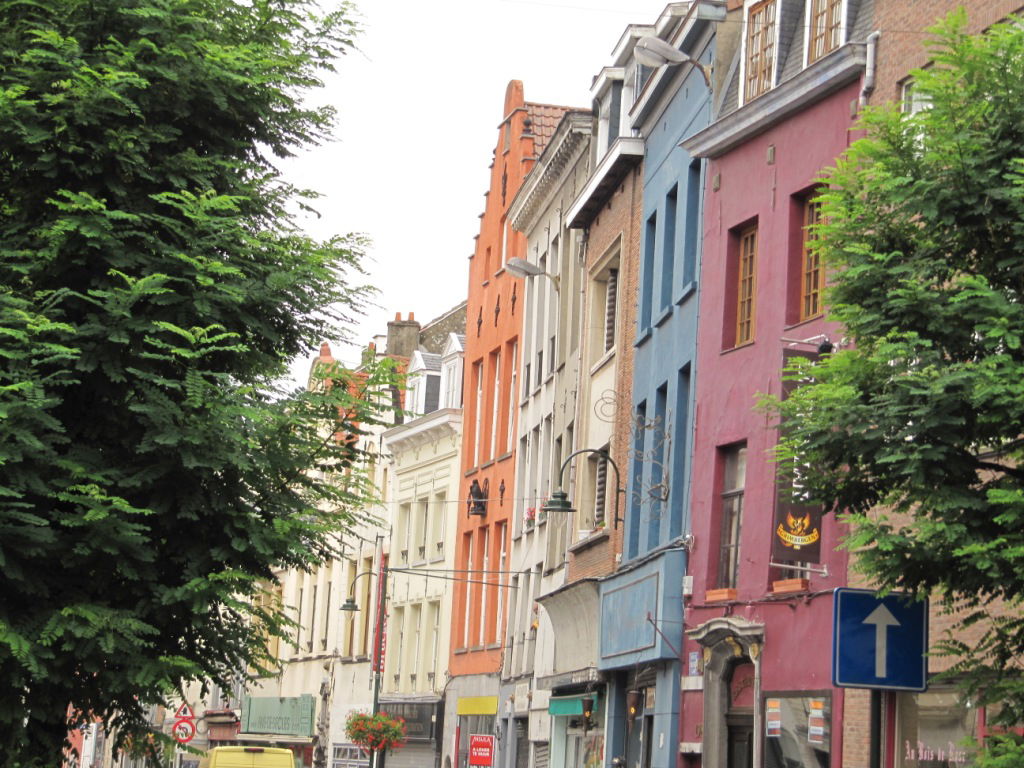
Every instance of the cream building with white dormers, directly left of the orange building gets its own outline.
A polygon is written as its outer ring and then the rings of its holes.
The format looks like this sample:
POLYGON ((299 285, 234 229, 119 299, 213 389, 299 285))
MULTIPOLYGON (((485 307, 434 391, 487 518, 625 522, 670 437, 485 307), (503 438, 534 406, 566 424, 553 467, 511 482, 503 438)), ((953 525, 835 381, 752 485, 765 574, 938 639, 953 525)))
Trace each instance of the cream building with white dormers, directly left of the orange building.
POLYGON ((439 758, 443 732, 462 446, 464 337, 440 354, 417 351, 409 367, 404 424, 384 432, 390 470, 389 611, 381 709, 406 718, 409 740, 388 768, 439 758))

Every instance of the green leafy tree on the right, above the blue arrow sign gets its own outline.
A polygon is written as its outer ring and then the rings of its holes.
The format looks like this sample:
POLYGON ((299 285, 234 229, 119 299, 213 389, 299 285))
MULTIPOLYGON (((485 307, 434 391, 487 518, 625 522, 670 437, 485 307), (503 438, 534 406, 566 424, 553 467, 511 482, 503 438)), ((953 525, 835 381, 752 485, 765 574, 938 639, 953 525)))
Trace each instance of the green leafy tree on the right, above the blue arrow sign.
POLYGON ((956 676, 1024 718, 1024 29, 932 30, 929 106, 864 116, 827 175, 818 247, 850 345, 793 375, 780 455, 846 512, 886 590, 956 610, 956 676))

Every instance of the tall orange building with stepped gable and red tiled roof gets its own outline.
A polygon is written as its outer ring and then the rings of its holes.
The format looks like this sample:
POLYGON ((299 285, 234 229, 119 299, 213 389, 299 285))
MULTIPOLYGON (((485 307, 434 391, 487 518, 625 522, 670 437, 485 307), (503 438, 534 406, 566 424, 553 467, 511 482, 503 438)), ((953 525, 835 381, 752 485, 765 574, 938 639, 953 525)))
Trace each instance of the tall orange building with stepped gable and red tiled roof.
MULTIPOLYGON (((463 478, 455 542, 458 581, 444 734, 445 755, 456 766, 467 763, 470 735, 496 733, 510 599, 507 571, 514 508, 516 394, 521 386, 522 282, 507 272, 505 264, 525 255, 525 243, 507 215, 523 178, 565 112, 565 108, 527 102, 521 82, 508 84, 480 233, 470 257, 463 478)), ((495 755, 493 764, 499 761, 500 755, 495 755)))

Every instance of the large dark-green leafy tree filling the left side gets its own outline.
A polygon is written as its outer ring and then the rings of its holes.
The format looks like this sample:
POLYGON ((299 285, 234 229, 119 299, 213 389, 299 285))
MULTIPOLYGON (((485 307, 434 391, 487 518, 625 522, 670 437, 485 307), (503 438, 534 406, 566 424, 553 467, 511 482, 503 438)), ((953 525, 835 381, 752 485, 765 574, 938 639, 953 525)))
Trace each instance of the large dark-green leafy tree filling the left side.
POLYGON ((0 0, 0 765, 272 664, 260 584, 361 508, 390 372, 274 386, 367 296, 274 166, 331 129, 351 14, 0 0))

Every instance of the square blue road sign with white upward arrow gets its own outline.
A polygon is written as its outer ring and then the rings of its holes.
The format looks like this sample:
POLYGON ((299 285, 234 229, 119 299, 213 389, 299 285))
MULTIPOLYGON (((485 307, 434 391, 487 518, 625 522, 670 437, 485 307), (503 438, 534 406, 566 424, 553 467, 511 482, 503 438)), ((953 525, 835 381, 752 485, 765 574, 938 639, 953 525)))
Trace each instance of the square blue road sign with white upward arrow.
POLYGON ((833 597, 833 685, 928 687, 928 601, 841 587, 833 597))

